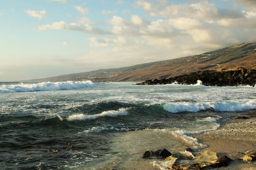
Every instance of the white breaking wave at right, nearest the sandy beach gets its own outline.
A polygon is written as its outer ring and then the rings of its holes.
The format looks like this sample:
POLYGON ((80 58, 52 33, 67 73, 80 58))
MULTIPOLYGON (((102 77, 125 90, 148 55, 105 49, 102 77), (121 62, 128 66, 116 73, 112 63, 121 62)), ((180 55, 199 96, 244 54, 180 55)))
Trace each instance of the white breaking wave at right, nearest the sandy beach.
POLYGON ((203 110, 214 111, 245 111, 256 109, 256 100, 243 100, 234 102, 206 102, 206 103, 168 103, 163 105, 164 110, 171 113, 198 112, 203 110))

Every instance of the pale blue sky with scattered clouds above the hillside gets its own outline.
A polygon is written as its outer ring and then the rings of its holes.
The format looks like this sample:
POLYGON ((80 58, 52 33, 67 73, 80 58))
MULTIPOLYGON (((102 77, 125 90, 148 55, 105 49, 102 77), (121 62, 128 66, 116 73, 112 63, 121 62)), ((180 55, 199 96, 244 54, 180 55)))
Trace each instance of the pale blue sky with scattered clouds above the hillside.
POLYGON ((255 32, 255 0, 1 0, 0 81, 195 55, 255 32))

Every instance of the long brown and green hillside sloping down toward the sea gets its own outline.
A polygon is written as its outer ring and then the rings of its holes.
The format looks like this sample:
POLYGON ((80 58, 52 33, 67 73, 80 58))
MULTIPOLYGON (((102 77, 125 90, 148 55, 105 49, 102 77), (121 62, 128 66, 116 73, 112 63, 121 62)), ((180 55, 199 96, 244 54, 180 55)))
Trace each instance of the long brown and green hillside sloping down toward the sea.
POLYGON ((145 81, 155 78, 170 78, 205 69, 225 70, 236 69, 237 67, 256 68, 256 42, 243 43, 237 46, 230 46, 212 52, 178 59, 150 62, 116 69, 99 69, 97 71, 66 74, 29 81, 145 81))

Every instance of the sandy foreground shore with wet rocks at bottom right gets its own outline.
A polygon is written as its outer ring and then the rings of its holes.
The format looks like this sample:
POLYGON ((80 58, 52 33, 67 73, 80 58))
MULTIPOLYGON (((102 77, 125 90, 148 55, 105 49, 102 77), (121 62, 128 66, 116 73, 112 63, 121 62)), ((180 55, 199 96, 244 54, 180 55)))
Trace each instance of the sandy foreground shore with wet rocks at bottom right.
POLYGON ((146 151, 143 159, 162 159, 156 169, 256 169, 256 118, 234 119, 215 131, 195 135, 207 144, 202 150, 185 148, 171 153, 166 149, 146 151))

